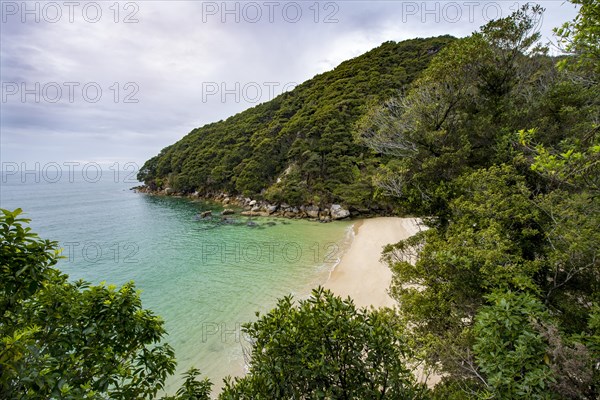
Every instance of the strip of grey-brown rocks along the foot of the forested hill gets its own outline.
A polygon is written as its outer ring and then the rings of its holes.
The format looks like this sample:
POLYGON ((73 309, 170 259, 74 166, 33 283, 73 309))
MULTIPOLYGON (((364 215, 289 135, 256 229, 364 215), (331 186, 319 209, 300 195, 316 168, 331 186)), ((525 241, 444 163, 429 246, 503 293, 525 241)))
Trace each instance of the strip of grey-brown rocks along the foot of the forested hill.
MULTIPOLYGON (((247 217, 283 217, 294 219, 312 219, 321 222, 331 222, 352 217, 352 213, 340 204, 329 204, 327 206, 302 205, 299 207, 289 204, 272 204, 263 200, 254 200, 241 195, 230 196, 227 193, 217 193, 211 195, 201 195, 198 192, 192 194, 178 193, 172 188, 163 190, 151 190, 147 186, 138 186, 132 188, 138 193, 148 193, 152 195, 187 197, 190 199, 202 199, 213 201, 223 205, 222 216, 239 214, 247 217), (236 211, 233 208, 241 208, 243 211, 236 211)), ((206 211, 199 215, 200 218, 212 216, 211 211, 206 211)))

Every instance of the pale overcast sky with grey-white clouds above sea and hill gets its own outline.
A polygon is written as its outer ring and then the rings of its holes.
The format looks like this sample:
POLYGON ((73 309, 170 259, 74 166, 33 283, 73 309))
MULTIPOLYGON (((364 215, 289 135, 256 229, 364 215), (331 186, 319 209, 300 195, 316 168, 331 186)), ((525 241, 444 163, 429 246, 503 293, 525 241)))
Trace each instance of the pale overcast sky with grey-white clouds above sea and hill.
MULTIPOLYGON (((466 36, 523 3, 2 0, 1 161, 141 166, 384 41, 466 36)), ((539 4, 544 41, 576 15, 539 4)))

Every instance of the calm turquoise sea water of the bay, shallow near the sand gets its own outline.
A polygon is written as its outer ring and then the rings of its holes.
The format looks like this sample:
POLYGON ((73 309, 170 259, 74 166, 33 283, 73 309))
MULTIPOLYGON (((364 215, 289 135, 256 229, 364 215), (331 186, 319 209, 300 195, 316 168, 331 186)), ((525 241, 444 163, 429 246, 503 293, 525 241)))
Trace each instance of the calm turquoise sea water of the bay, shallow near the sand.
POLYGON ((128 172, 1 179, 0 207, 22 208, 35 232, 59 241, 61 270, 92 283, 135 281, 144 306, 165 320, 178 374, 194 365, 216 386, 243 372, 241 324, 322 284, 351 234, 348 221, 198 220, 221 206, 135 193, 128 172))

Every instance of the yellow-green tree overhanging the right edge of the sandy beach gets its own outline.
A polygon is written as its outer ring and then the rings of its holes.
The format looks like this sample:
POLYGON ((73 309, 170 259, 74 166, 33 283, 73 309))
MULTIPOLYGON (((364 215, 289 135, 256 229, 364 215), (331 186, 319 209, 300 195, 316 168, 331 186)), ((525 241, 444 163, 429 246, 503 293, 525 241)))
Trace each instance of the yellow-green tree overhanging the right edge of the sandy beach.
POLYGON ((430 367, 471 376, 472 327, 497 287, 535 290, 540 212, 514 168, 494 166, 458 178, 445 228, 432 227, 384 251, 391 295, 430 367))

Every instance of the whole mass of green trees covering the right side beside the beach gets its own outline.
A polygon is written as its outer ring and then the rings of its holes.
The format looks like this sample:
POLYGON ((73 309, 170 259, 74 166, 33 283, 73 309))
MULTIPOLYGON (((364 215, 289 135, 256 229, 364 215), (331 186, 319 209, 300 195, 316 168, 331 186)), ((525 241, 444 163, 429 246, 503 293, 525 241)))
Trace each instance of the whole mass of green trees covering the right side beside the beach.
POLYGON ((430 228, 384 259, 414 350, 444 373, 434 398, 600 393, 598 14, 576 3, 569 68, 544 55, 541 10, 525 7, 446 47, 361 121, 391 157, 379 185, 430 228))

